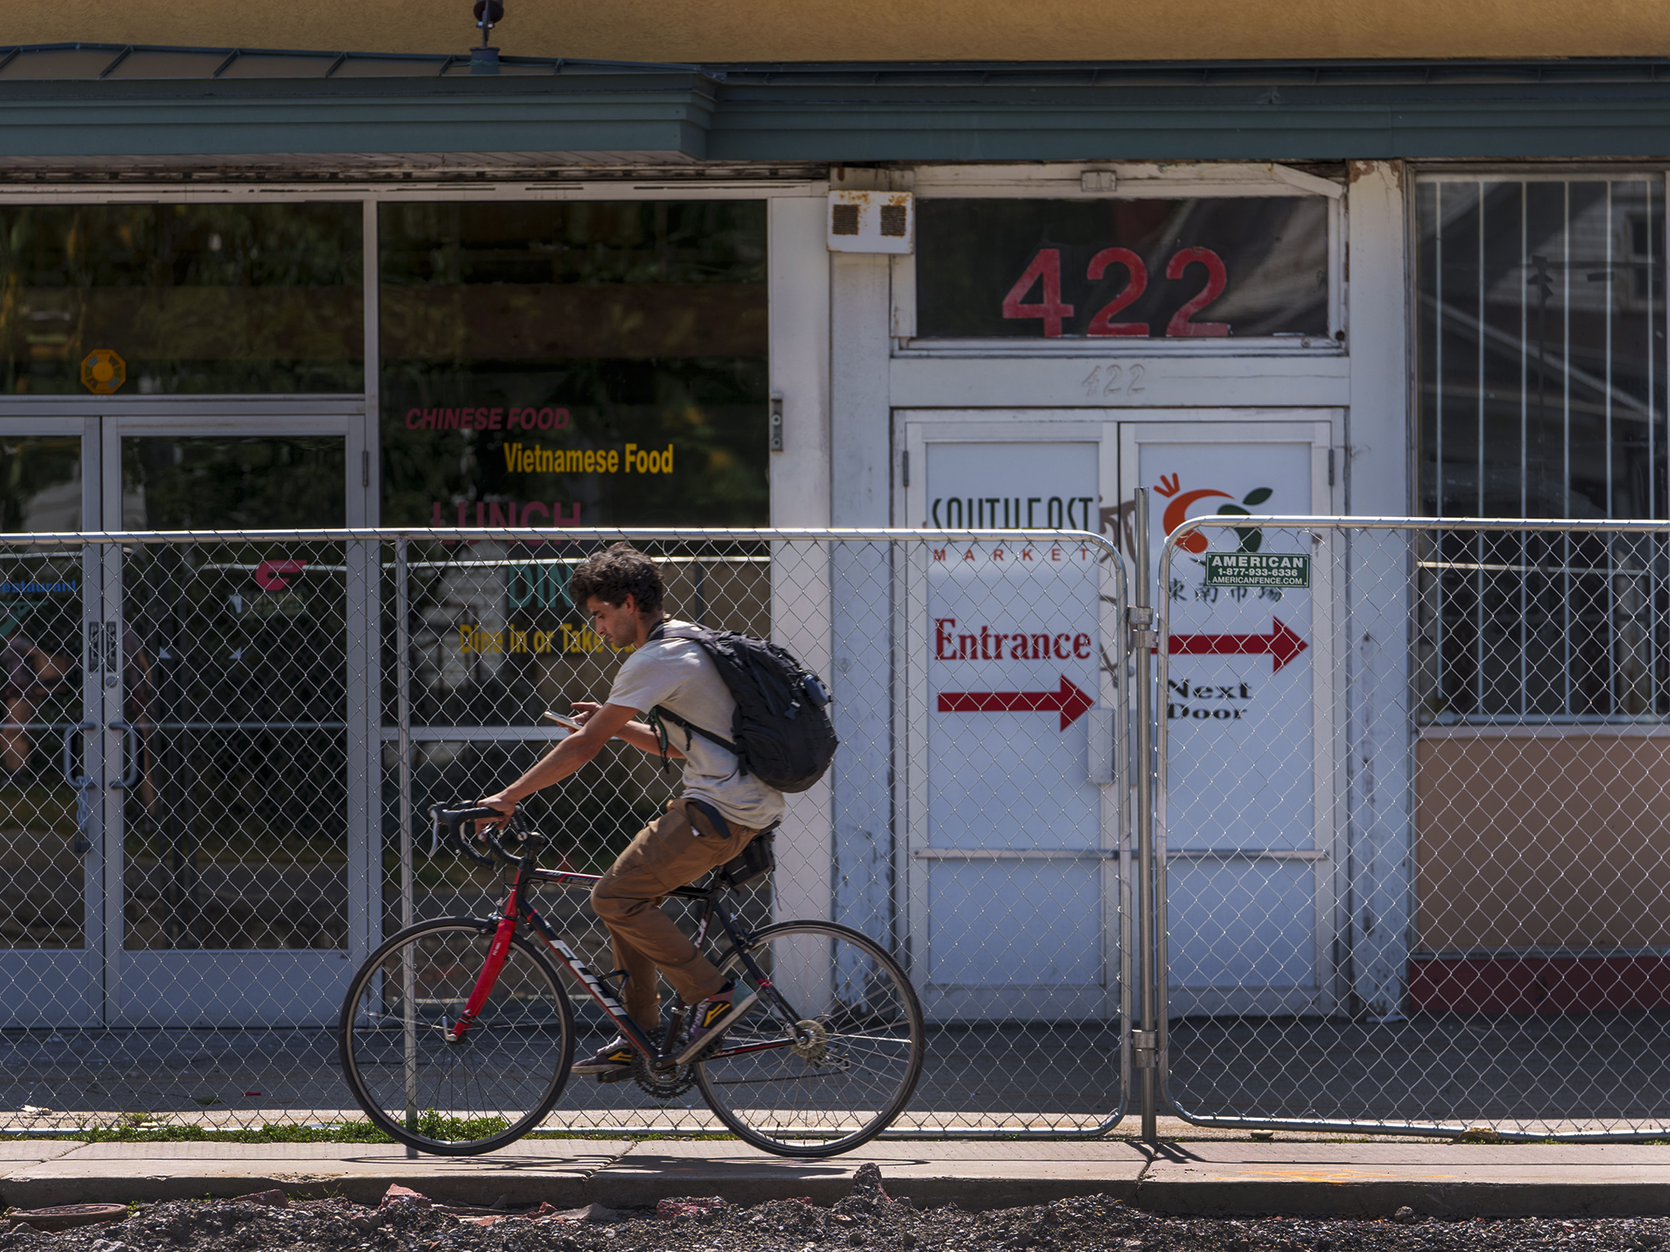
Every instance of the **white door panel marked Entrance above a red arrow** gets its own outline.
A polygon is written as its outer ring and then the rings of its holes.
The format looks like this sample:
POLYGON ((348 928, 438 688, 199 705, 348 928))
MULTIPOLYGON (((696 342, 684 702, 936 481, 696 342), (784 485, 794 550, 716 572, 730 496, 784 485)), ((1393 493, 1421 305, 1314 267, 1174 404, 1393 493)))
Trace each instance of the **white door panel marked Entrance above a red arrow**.
MULTIPOLYGON (((908 524, 1101 529, 1114 427, 1022 411, 902 414, 898 432, 908 524)), ((1119 1013, 1119 796, 1089 770, 1117 694, 1101 558, 987 539, 903 561, 900 868, 934 1017, 1119 1013)))

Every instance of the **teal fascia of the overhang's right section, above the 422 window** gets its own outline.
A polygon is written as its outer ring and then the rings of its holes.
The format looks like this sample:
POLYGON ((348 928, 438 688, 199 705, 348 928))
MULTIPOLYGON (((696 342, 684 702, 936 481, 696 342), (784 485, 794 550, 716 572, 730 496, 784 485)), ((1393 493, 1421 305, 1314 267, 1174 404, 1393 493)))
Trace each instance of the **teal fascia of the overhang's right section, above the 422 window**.
POLYGON ((1660 157, 1670 155, 1670 83, 949 82, 843 92, 726 83, 708 154, 832 162, 1660 157))

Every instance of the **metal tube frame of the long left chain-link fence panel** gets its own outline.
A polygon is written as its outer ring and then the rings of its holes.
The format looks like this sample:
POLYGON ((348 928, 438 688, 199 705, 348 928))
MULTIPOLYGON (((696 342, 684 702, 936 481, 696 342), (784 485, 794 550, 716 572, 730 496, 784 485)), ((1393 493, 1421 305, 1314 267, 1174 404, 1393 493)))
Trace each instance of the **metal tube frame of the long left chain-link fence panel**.
MULTIPOLYGON (((1101 644, 1107 654, 1117 658, 1119 664, 1119 708, 1116 716, 1111 718, 1112 745, 1109 753, 1109 783, 1117 790, 1121 801, 1117 805, 1119 811, 1119 851, 1117 851, 1117 901, 1119 901, 1119 918, 1117 923, 1109 921, 1107 925, 1116 926, 1117 943, 1119 943, 1119 1075, 1121 1075, 1121 1097, 1114 1108, 1107 1110, 1101 1120, 1087 1127, 1074 1128, 992 1128, 992 1127, 959 1127, 959 1125, 940 1125, 940 1127, 905 1127, 885 1132, 893 1138, 982 1138, 982 1137, 1002 1137, 1002 1138, 1096 1138, 1114 1130, 1126 1115, 1126 1107, 1131 1098, 1131 1072, 1132 1072, 1132 1048, 1131 1048, 1131 1020, 1134 1008, 1134 993, 1137 980, 1134 977, 1134 957, 1131 943, 1131 925, 1132 925, 1132 908, 1131 908, 1131 883, 1134 875, 1131 873, 1131 861, 1136 855, 1136 845, 1132 840, 1132 821, 1131 821, 1131 805, 1126 803, 1129 795, 1131 780, 1126 775, 1127 761, 1131 760, 1131 751, 1127 745, 1127 719, 1129 719, 1129 699, 1131 699, 1131 683, 1129 674, 1129 656, 1131 656, 1131 639, 1127 629, 1127 576, 1124 569, 1124 561, 1119 548, 1114 541, 1091 534, 1086 531, 935 531, 935 529, 820 529, 820 528, 563 528, 563 529, 533 529, 533 528, 332 528, 332 529, 271 529, 271 531, 100 531, 100 533, 20 533, 3 536, 3 541, 13 548, 43 548, 53 544, 77 544, 77 546, 102 546, 102 548, 120 548, 129 544, 209 544, 209 543, 342 543, 342 544, 376 544, 376 546, 392 546, 392 571, 394 571, 394 618, 396 618, 396 688, 397 688, 397 713, 396 713, 396 745, 397 745, 397 776, 399 776, 399 811, 401 811, 401 841, 399 841, 399 873, 401 873, 401 916, 402 923, 409 925, 414 918, 414 851, 412 851, 412 708, 411 708, 411 614, 409 614, 409 546, 414 541, 448 541, 448 543, 526 543, 526 541, 690 541, 690 543, 736 543, 736 541, 783 541, 783 543, 822 543, 825 548, 838 543, 873 543, 873 544, 922 544, 922 543, 995 543, 995 544, 1015 544, 1015 543, 1072 543, 1087 544, 1097 549, 1097 564, 1111 564, 1111 579, 1114 583, 1114 613, 1112 621, 1112 638, 1106 634, 1101 638, 1101 644)), ((349 549, 352 553, 352 549, 349 549)), ((352 556, 349 558, 352 561, 352 556)), ((389 568, 382 559, 377 559, 374 553, 366 554, 367 569, 371 573, 371 581, 367 583, 367 604, 364 611, 371 616, 371 638, 369 646, 372 649, 372 661, 367 673, 369 689, 366 698, 371 701, 371 724, 372 733, 382 726, 381 714, 381 696, 379 683, 382 668, 376 659, 377 649, 382 646, 379 643, 381 626, 377 624, 377 613, 384 604, 384 589, 379 583, 382 573, 389 568)), ((1106 601, 1106 596, 1104 596, 1106 601)), ((1142 661, 1146 663, 1146 649, 1142 651, 1142 661)), ((381 740, 381 736, 377 736, 381 740)), ((1146 741, 1147 736, 1139 724, 1139 738, 1146 741)), ((357 803, 349 800, 351 805, 357 803)), ((1149 1012, 1152 1012, 1152 1000, 1146 1002, 1149 1012)), ((569 1130, 603 1130, 631 1133, 633 1130, 645 1132, 666 1132, 666 1125, 645 1125, 630 1127, 620 1123, 608 1125, 578 1125, 569 1123, 564 1128, 569 1130)), ((28 1130, 23 1128, 23 1133, 28 1130)), ((45 1130, 45 1133, 62 1133, 58 1130, 45 1130)), ((0 1133, 18 1133, 18 1130, 0 1127, 0 1133)), ((678 1130, 678 1133, 703 1133, 700 1128, 678 1130)))

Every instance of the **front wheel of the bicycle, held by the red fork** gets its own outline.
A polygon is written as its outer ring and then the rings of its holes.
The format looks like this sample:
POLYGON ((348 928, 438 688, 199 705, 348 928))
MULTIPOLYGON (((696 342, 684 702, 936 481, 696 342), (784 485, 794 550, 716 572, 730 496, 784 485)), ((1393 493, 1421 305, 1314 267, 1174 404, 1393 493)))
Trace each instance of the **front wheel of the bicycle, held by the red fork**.
POLYGON ((574 1060, 574 1023, 556 970, 521 935, 474 1025, 448 1032, 486 965, 496 923, 424 921, 359 967, 337 1047, 359 1107, 424 1152, 459 1157, 521 1138, 551 1112, 574 1060))

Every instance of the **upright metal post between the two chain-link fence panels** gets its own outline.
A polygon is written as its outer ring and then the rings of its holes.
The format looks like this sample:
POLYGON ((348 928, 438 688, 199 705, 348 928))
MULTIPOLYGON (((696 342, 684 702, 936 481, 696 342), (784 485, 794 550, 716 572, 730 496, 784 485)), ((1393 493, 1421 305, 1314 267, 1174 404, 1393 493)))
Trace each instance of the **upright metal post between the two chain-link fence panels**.
POLYGON ((1136 594, 1132 594, 1131 646, 1136 649, 1137 686, 1137 988, 1141 1025, 1131 1038, 1131 1063, 1142 1090, 1142 1138, 1159 1140, 1154 1092, 1154 608, 1149 604, 1147 491, 1136 489, 1136 594))

